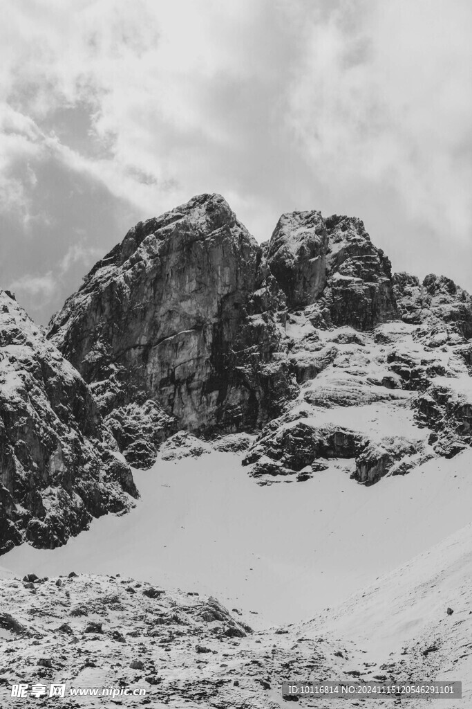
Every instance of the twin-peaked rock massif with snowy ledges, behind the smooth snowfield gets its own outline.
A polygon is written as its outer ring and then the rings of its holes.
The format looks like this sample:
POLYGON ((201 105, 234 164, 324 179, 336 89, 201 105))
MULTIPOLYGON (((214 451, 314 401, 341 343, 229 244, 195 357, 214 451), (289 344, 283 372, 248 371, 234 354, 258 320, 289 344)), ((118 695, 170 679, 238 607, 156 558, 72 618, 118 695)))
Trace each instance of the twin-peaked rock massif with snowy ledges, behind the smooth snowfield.
POLYGON ((392 276, 361 220, 284 214, 260 246, 218 195, 130 230, 48 333, 136 467, 245 431, 262 481, 341 457, 366 484, 470 445, 471 336, 471 297, 392 276), (410 427, 376 433, 378 403, 410 427))

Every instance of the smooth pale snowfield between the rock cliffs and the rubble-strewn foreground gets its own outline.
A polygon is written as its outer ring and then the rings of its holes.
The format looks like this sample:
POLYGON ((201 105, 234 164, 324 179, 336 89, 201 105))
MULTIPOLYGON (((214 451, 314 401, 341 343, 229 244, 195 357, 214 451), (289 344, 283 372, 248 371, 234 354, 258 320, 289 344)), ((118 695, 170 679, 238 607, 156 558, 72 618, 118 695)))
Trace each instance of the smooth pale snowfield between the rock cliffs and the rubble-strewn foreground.
POLYGON ((466 525, 472 450, 364 487, 349 460, 303 483, 258 486, 236 454, 136 471, 135 510, 94 520, 66 547, 23 545, 2 563, 23 576, 125 574, 217 596, 253 625, 296 623, 466 525))

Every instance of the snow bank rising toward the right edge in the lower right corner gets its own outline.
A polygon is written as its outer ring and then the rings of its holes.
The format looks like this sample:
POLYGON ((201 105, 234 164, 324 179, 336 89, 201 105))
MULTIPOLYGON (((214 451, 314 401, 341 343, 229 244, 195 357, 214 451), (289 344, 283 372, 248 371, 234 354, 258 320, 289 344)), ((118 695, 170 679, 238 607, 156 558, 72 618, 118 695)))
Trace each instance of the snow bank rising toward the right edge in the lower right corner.
POLYGON ((447 705, 471 706, 472 524, 298 630, 355 639, 372 666, 364 680, 380 668, 395 681, 461 681, 462 699, 447 705))

